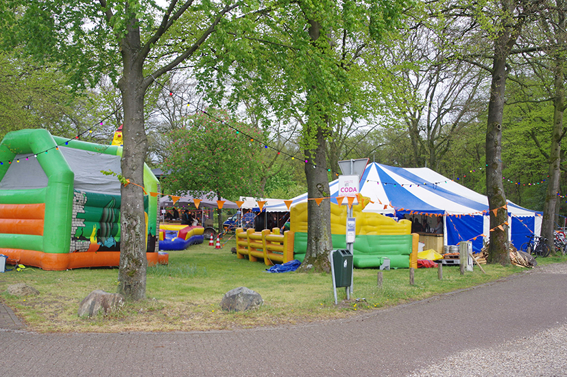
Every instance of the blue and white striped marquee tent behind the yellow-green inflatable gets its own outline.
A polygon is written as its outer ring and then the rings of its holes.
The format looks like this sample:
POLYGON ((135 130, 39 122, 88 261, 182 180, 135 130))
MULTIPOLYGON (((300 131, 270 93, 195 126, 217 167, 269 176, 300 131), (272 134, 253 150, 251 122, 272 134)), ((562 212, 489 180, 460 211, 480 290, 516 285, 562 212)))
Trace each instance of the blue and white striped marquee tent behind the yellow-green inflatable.
MULTIPOLYGON (((329 183, 330 196, 337 203, 339 180, 329 183)), ((444 242, 456 245, 472 241, 474 251, 483 247, 483 236, 490 236, 488 198, 448 179, 429 168, 395 168, 372 162, 364 170, 360 193, 374 203, 364 209, 367 212, 407 218, 408 216, 442 215, 444 242)), ((293 198, 292 206, 307 200, 307 194, 293 198)), ((343 204, 346 202, 343 201, 343 204)), ((267 205, 267 211, 286 211, 285 205, 267 205)), ((508 202, 510 240, 519 248, 527 241, 526 235, 540 234, 542 216, 508 202)), ((435 220, 429 220, 432 226, 435 220)))

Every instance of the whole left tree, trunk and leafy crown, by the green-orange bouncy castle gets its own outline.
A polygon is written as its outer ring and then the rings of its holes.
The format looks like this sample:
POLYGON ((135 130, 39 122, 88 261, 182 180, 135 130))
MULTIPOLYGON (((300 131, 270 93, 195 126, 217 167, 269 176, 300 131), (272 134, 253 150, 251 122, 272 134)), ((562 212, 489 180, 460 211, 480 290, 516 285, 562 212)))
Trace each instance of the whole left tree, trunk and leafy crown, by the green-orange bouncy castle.
POLYGON ((147 152, 144 99, 149 86, 191 57, 236 1, 5 0, 0 3, 1 46, 40 61, 60 62, 80 88, 102 75, 117 80, 123 124, 121 257, 118 290, 145 298, 147 259, 143 164, 147 152))

